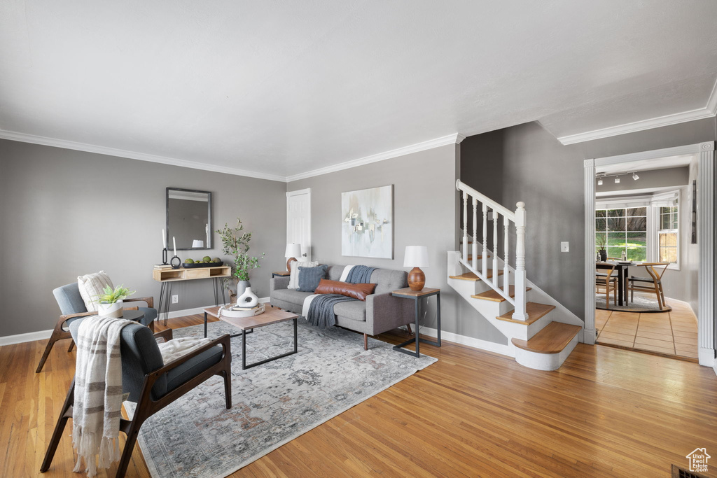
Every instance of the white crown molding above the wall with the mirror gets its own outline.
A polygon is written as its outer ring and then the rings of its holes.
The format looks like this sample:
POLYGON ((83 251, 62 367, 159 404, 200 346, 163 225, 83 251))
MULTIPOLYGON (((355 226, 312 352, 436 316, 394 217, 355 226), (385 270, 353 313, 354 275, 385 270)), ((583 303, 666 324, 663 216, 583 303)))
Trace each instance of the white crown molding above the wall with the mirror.
POLYGON ((22 143, 33 143, 44 146, 53 146, 54 148, 65 148, 77 151, 85 151, 87 153, 104 154, 107 156, 118 156, 120 158, 137 159, 139 161, 149 161, 151 163, 168 164, 169 166, 179 166, 181 168, 201 169, 202 171, 212 171, 214 173, 233 174, 234 176, 247 176, 249 178, 266 179, 268 181, 280 181, 282 183, 286 182, 286 178, 284 176, 278 176, 276 174, 257 173, 255 171, 245 171, 244 169, 214 166, 212 164, 197 163, 196 161, 186 161, 184 159, 168 158, 167 156, 138 153, 136 151, 128 151, 118 148, 108 148, 106 146, 91 145, 87 143, 77 143, 75 141, 59 140, 56 138, 46 138, 44 136, 28 135, 25 133, 15 133, 14 131, 0 130, 0 138, 6 140, 22 141, 22 143))

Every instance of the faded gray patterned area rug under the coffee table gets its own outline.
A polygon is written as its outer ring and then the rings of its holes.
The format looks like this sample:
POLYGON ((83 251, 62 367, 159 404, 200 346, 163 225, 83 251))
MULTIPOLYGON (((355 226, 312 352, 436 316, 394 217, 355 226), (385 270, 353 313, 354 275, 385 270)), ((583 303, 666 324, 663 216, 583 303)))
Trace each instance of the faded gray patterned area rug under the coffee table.
MULTIPOLYGON (((201 337, 203 327, 174 330, 174 337, 201 337)), ((208 336, 237 331, 212 322, 208 336)), ((242 371, 242 338, 232 338, 232 408, 225 408, 222 379, 213 377, 148 419, 138 441, 151 476, 226 477, 437 361, 374 339, 364 350, 361 335, 301 319, 298 339, 297 354, 242 371)), ((292 347, 291 322, 258 328, 247 336, 247 362, 292 347)), ((128 414, 134 406, 125 402, 128 414)))

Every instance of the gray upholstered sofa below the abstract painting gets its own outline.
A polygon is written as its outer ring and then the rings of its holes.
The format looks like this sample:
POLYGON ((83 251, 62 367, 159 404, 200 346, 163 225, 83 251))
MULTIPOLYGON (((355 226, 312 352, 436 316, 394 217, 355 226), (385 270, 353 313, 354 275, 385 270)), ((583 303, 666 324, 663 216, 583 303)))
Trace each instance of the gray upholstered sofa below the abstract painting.
MULTIPOLYGON (((344 266, 329 266, 326 278, 340 279, 343 268, 344 266)), ((352 300, 339 302, 333 307, 337 325, 364 334, 364 349, 368 349, 369 335, 410 324, 414 322, 416 313, 412 300, 391 296, 391 291, 408 287, 407 272, 376 269, 371 274, 370 282, 376 284, 376 290, 366 297, 366 302, 352 300)), ((289 277, 271 279, 270 304, 300 315, 304 299, 312 293, 288 289, 288 285, 289 277)))

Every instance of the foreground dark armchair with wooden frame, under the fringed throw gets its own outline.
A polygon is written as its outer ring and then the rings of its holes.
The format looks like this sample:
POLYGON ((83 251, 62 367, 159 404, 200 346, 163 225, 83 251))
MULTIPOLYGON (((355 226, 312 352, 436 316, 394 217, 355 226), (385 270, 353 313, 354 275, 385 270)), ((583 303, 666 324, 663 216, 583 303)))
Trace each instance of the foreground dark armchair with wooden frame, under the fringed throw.
MULTIPOLYGON (((76 340, 82 320, 70 325, 72 338, 76 340)), ((128 400, 137 403, 132 420, 120 419, 120 431, 127 435, 122 457, 115 477, 123 477, 132 457, 139 429, 150 416, 192 388, 212 376, 224 378, 224 398, 227 409, 232 408, 232 353, 229 335, 212 342, 169 363, 163 363, 157 346, 157 339, 171 340, 172 330, 152 334, 149 328, 140 324, 126 325, 120 333, 120 355, 122 355, 122 388, 129 393, 128 400)), ((62 405, 60 417, 54 427, 52 439, 47 447, 40 472, 47 472, 67 419, 72 418, 72 404, 75 402, 75 380, 62 405)))

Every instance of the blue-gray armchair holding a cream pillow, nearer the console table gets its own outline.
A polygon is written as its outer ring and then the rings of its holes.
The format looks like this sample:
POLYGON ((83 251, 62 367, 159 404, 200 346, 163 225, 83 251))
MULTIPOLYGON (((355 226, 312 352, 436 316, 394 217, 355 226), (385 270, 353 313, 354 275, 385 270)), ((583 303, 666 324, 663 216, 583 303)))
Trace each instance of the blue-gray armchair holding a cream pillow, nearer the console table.
MULTIPOLYGON (((87 315, 97 315, 97 312, 87 312, 87 307, 85 307, 85 301, 82 300, 77 282, 57 287, 52 293, 54 294, 54 300, 57 300, 57 305, 60 306, 62 315, 60 315, 60 320, 57 320, 57 324, 55 324, 54 330, 52 330, 52 335, 47 341, 47 345, 45 346, 44 353, 42 353, 42 358, 40 358, 40 363, 37 364, 35 373, 42 371, 49 352, 52 350, 52 345, 54 345, 57 340, 72 339, 69 330, 67 330, 72 322, 80 317, 87 317, 87 315)), ((144 312, 144 318, 140 320, 140 322, 143 325, 147 325, 151 330, 154 330, 154 319, 157 317, 157 310, 154 308, 153 297, 128 297, 124 302, 146 302, 147 307, 137 307, 138 310, 144 312)), ((70 348, 68 348, 67 351, 72 351, 74 345, 75 341, 71 340, 70 348)))

